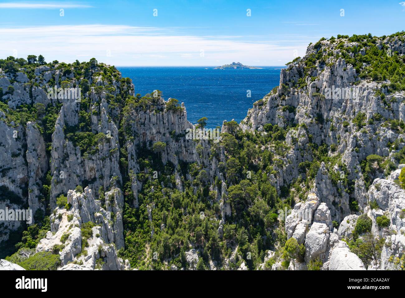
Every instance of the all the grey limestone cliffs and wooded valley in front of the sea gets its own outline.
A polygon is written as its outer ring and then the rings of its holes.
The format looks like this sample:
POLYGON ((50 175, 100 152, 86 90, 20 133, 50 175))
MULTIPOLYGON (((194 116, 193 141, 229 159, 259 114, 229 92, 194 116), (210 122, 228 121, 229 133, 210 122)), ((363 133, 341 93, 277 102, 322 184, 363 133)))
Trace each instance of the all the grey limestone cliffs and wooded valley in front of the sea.
POLYGON ((0 266, 403 270, 404 42, 310 44, 218 139, 94 58, 0 59, 0 210, 32 210, 0 266))

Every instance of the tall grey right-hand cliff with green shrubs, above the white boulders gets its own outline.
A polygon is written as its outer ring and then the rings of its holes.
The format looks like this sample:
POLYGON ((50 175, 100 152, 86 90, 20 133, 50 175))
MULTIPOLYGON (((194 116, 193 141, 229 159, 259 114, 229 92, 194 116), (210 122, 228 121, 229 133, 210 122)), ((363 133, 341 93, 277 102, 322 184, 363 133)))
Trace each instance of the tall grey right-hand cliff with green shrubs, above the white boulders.
MULTIPOLYGON (((402 148, 401 140, 405 137, 402 129, 387 125, 390 120, 404 120, 405 92, 398 90, 389 79, 372 80, 369 73, 372 73, 373 61, 360 63, 356 58, 366 57, 370 51, 378 49, 384 52, 379 55, 396 51, 398 60, 403 63, 401 37, 371 42, 364 42, 363 38, 356 42, 350 40, 321 40, 309 45, 304 58, 297 58, 281 70, 279 87, 255 103, 240 125, 244 131, 259 132, 269 123, 281 127, 298 125, 305 128, 299 129, 298 139, 310 135, 312 143, 325 144, 328 155, 338 157, 337 161, 344 165, 343 168, 337 163, 330 164, 329 172, 340 176, 343 171, 345 177, 333 185, 328 178, 330 173, 321 165, 313 192, 328 204, 333 219, 338 222, 350 214, 350 198, 358 202, 360 209, 367 205, 360 162, 376 154, 388 157, 394 163, 393 168, 398 166, 398 161, 392 158, 395 151, 390 146, 399 141, 397 148, 402 148), (351 64, 353 61, 355 65, 351 64), (349 186, 344 180, 354 181, 354 185, 349 186), (344 192, 348 187, 353 188, 349 194, 344 192), (340 210, 336 210, 336 205, 340 210)), ((313 152, 302 142, 298 141, 292 150, 294 152, 286 157, 288 162, 283 176, 279 176, 279 184, 300 176, 300 158, 309 161, 313 158, 313 152)), ((384 174, 378 172, 374 178, 377 177, 383 178, 384 174)))

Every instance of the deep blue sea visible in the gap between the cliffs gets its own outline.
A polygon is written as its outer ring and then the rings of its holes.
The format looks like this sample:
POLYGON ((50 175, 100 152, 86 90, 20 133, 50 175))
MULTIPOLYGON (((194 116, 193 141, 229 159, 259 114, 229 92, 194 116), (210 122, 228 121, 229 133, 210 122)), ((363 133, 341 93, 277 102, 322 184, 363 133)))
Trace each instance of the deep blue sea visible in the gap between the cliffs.
POLYGON ((279 85, 280 69, 285 66, 260 66, 263 69, 213 69, 193 67, 117 66, 123 77, 130 77, 135 94, 162 91, 165 100, 184 102, 187 119, 196 123, 207 117, 207 127, 221 126, 224 120, 238 123, 246 117, 255 101, 279 85), (247 97, 247 90, 251 97, 247 97))

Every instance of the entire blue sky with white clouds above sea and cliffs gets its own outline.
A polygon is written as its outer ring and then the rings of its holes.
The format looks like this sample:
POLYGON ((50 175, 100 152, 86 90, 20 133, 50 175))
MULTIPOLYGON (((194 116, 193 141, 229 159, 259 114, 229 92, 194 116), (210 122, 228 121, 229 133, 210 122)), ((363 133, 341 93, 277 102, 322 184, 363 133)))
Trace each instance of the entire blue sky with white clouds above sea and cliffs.
POLYGON ((322 36, 388 35, 403 24, 399 0, 0 1, 0 57, 95 57, 117 66, 283 65, 322 36))

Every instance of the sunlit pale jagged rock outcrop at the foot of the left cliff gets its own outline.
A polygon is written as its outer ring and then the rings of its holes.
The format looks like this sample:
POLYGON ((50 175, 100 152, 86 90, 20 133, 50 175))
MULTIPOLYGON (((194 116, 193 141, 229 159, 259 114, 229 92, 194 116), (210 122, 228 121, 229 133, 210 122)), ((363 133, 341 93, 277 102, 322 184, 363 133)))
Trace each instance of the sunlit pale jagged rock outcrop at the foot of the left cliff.
POLYGON ((83 267, 124 270, 124 262, 117 257, 116 250, 124 246, 122 194, 119 189, 111 189, 105 197, 107 209, 111 211, 102 208, 88 187, 84 193, 69 191, 71 207, 55 209, 51 215, 51 231, 40 240, 36 251, 59 249, 61 270, 85 270, 83 267), (78 266, 70 265, 72 263, 78 266))

